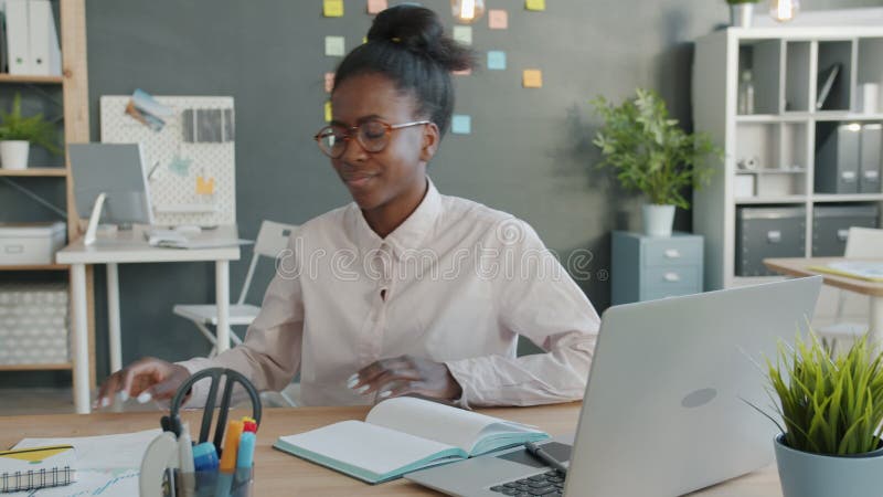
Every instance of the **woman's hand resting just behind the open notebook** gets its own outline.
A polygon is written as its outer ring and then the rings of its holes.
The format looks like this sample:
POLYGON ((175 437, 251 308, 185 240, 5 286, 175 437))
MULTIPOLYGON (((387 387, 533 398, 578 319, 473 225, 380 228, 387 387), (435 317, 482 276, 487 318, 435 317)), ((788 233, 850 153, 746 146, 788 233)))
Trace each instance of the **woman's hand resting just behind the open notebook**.
POLYGON ((413 356, 381 359, 350 377, 347 387, 366 395, 377 393, 376 400, 402 395, 455 400, 462 388, 444 362, 413 356))

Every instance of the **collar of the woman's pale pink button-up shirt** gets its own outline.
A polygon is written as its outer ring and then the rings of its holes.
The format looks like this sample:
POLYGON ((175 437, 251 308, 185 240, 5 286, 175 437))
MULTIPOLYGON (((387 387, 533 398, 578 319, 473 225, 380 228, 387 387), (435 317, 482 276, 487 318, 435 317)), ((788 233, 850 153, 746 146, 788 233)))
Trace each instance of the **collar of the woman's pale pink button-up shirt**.
POLYGON ((426 235, 435 229, 435 222, 442 214, 442 194, 427 177, 426 194, 419 205, 407 219, 398 225, 392 233, 381 239, 371 226, 368 225, 359 205, 353 202, 350 204, 350 226, 353 230, 355 243, 359 250, 369 252, 377 250, 386 243, 392 250, 396 260, 408 250, 416 250, 421 246, 426 235))

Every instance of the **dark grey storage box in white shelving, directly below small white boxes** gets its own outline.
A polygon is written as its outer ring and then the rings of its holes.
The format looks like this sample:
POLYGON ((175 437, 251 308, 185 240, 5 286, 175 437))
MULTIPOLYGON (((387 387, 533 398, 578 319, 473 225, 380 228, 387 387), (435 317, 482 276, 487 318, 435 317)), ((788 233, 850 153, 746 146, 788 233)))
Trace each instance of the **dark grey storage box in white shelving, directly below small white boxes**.
POLYGON ((767 257, 806 254, 806 209, 741 207, 736 209, 736 276, 772 276, 767 257))

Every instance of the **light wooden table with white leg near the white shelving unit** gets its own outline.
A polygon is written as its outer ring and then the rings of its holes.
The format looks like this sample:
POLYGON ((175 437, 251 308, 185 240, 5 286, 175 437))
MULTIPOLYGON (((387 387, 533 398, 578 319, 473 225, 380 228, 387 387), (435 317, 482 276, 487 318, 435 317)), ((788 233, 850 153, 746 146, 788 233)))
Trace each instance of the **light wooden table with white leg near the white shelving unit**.
POLYGON ((764 264, 777 273, 788 276, 804 277, 821 275, 826 285, 836 286, 857 294, 871 297, 870 304, 870 328, 874 340, 883 342, 883 283, 868 282, 859 278, 838 276, 830 273, 821 273, 810 269, 810 266, 823 266, 826 264, 844 261, 843 257, 787 257, 787 258, 765 258, 764 264))

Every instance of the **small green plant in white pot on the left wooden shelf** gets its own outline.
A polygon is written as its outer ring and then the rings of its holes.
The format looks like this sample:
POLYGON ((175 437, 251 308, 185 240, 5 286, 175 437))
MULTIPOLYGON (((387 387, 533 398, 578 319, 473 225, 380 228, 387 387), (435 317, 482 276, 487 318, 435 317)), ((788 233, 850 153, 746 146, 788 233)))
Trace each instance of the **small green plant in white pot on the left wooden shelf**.
POLYGON ((61 150, 56 144, 56 130, 42 114, 31 117, 21 115, 21 95, 15 94, 12 112, 0 110, 0 167, 4 169, 28 168, 30 145, 39 145, 52 154, 61 150))

